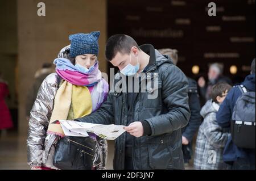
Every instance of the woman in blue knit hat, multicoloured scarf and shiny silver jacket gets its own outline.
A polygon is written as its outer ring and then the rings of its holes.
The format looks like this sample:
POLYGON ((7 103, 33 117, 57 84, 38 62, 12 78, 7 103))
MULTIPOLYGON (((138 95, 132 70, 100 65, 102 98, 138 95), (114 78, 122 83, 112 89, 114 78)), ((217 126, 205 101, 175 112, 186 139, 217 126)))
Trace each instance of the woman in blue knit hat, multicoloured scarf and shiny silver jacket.
MULTIPOLYGON (((61 49, 53 61, 56 72, 49 74, 40 86, 28 128, 31 169, 57 169, 53 155, 64 132, 55 120, 89 115, 105 101, 109 85, 98 69, 99 37, 98 31, 70 35, 71 45, 61 49)), ((97 140, 93 169, 106 169, 107 142, 95 134, 90 137, 97 140)))

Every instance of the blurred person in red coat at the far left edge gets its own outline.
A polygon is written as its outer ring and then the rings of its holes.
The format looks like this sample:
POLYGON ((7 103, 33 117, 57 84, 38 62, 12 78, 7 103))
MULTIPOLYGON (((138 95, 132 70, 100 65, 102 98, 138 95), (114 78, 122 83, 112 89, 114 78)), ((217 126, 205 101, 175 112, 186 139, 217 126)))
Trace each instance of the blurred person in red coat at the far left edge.
POLYGON ((9 96, 9 89, 7 82, 3 80, 0 72, 0 131, 1 136, 6 136, 6 129, 13 127, 13 120, 9 108, 5 103, 5 98, 9 96))

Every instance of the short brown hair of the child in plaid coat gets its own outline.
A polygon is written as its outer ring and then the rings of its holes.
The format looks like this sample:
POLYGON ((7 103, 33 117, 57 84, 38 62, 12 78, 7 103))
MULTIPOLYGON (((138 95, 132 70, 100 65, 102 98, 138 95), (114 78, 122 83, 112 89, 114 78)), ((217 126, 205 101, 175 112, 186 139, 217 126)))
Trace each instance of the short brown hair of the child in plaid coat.
POLYGON ((232 89, 232 86, 230 86, 228 83, 216 83, 216 85, 212 87, 210 98, 212 98, 213 102, 218 103, 217 96, 222 96, 222 94, 224 94, 225 91, 229 91, 230 89, 232 89))

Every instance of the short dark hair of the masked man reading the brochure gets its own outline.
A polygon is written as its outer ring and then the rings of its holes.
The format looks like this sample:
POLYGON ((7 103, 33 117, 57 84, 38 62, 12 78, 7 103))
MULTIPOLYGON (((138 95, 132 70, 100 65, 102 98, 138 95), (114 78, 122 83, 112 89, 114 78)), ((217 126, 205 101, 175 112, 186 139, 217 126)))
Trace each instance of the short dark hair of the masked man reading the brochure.
POLYGON ((106 43, 105 58, 112 61, 118 52, 130 54, 132 47, 137 47, 140 50, 137 42, 132 37, 123 34, 113 35, 106 43))

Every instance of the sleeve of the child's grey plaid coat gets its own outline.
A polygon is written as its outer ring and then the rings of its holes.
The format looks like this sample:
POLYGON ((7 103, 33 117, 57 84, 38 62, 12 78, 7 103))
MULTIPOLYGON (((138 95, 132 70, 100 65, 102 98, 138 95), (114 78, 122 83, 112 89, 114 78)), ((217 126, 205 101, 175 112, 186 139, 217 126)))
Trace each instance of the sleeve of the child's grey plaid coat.
MULTIPOLYGON (((229 133, 224 133, 221 127, 217 124, 214 116, 211 116, 214 120, 204 120, 205 121, 205 131, 204 134, 207 137, 207 140, 210 142, 210 145, 214 146, 216 149, 224 148, 226 141, 228 141, 229 133)), ((211 118, 209 118, 211 119, 211 118)))

